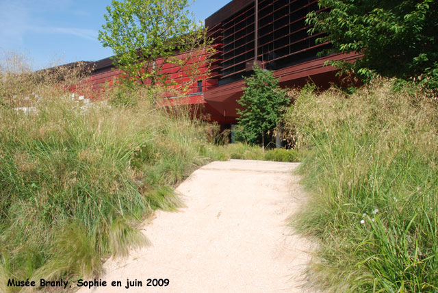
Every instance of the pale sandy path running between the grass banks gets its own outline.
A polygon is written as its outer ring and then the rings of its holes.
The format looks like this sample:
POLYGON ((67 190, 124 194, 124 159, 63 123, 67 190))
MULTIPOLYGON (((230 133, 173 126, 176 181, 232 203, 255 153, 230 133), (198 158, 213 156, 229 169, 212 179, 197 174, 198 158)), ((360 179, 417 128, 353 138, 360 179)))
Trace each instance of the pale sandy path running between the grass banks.
POLYGON ((108 260, 109 285, 79 292, 316 292, 302 288, 311 244, 286 227, 306 199, 292 175, 297 166, 231 160, 196 170, 177 188, 187 207, 144 225, 152 246, 108 260), (170 283, 146 287, 149 278, 170 283), (143 286, 110 285, 127 279, 143 286))

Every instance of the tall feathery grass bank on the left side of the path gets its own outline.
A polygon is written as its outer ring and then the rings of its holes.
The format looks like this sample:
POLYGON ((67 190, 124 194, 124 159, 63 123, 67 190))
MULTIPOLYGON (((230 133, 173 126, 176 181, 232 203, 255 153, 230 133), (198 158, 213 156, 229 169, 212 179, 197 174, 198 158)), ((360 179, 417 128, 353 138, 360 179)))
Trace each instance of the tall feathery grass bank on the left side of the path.
POLYGON ((141 90, 135 107, 85 107, 53 74, 1 71, 1 292, 19 289, 5 279, 92 277, 147 244, 136 225, 179 207, 173 187, 208 161, 209 127, 185 110, 141 90))

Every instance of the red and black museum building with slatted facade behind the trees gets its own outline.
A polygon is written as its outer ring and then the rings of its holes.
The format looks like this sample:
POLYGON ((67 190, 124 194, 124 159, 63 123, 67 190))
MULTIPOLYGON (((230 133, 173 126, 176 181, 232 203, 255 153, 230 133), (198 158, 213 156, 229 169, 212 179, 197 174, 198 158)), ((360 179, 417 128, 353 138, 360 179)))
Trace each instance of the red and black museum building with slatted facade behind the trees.
MULTIPOLYGON (((259 53, 257 61, 263 61, 265 66, 273 64, 274 76, 279 77, 281 86, 296 86, 305 82, 311 76, 320 84, 335 80, 335 68, 323 66, 326 60, 347 60, 353 62, 359 57, 357 54, 332 55, 326 58, 315 58, 316 49, 329 45, 315 44, 314 36, 303 36, 309 26, 304 25, 305 16, 302 13, 309 9, 315 9, 316 0, 260 0, 259 1, 259 32, 263 34, 257 38, 259 53), (284 4, 283 4, 284 3, 284 4), (286 21, 287 20, 287 21, 286 21), (284 42, 284 43, 283 43, 284 42), (313 55, 311 55, 313 54, 313 55), (312 61, 300 62, 300 60, 312 61), (279 64, 279 65, 276 65, 279 64), (294 64, 287 66, 287 64, 294 64), (281 68, 281 66, 287 66, 281 68), (281 69, 278 69, 281 68, 281 69)), ((253 0, 233 0, 218 12, 207 18, 206 25, 211 27, 207 36, 214 38, 213 47, 216 53, 212 54, 214 60, 211 64, 205 64, 206 51, 190 51, 175 54, 175 58, 185 60, 183 66, 178 64, 163 64, 163 58, 159 58, 157 66, 162 66, 161 72, 168 76, 165 84, 170 89, 165 93, 166 97, 176 95, 182 84, 187 88, 187 97, 172 98, 159 103, 162 106, 177 105, 203 105, 199 115, 207 115, 209 120, 220 123, 235 123, 238 107, 236 101, 242 95, 242 80, 235 82, 246 72, 246 63, 255 60, 255 6, 253 0), (191 66, 198 64, 196 75, 191 71, 191 66), (207 75, 208 65, 211 73, 207 75), (204 94, 198 94, 198 81, 204 94), (232 82, 225 84, 226 82, 232 82), (225 84, 219 86, 219 84, 225 84)), ((326 9, 326 8, 324 8, 326 9)), ((113 86, 124 73, 120 70, 112 70, 112 60, 106 58, 95 62, 96 70, 93 75, 85 79, 80 85, 70 88, 71 91, 85 92, 92 88, 94 97, 105 90, 106 86, 113 86)), ((151 81, 144 81, 151 84, 151 81)), ((183 93, 181 93, 183 95, 183 93)), ((198 111, 198 110, 196 110, 198 111)))

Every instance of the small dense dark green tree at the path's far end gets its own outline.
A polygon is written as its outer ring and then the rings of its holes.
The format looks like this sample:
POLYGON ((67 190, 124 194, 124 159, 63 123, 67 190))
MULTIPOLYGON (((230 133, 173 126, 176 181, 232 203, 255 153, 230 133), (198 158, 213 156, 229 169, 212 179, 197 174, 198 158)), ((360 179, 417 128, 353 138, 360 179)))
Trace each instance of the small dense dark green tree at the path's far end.
POLYGON ((254 75, 245 77, 245 81, 244 94, 237 100, 243 107, 237 109, 237 132, 246 142, 255 142, 261 136, 264 149, 265 134, 281 123, 290 99, 271 71, 255 66, 254 75))

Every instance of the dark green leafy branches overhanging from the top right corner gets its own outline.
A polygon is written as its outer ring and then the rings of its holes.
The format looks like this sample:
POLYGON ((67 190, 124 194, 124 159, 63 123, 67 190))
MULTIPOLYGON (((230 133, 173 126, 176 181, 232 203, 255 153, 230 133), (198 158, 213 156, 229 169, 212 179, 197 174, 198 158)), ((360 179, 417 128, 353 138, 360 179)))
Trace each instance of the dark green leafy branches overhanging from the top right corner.
MULTIPOLYGON (((437 1, 322 0, 323 12, 311 12, 311 34, 325 31, 318 42, 333 41, 329 52, 359 52, 349 66, 361 77, 415 79, 430 88, 438 82, 437 1)), ((337 64, 339 65, 339 64, 337 64)))

